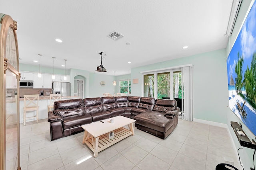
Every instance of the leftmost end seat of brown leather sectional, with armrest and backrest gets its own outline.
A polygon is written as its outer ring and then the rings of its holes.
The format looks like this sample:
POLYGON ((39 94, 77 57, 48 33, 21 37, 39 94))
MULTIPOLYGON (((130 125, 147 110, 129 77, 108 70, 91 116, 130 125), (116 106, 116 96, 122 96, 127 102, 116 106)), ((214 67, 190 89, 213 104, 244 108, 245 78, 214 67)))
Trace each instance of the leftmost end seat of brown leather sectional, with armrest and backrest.
POLYGON ((92 123, 92 116, 85 113, 82 99, 54 102, 54 111, 48 113, 51 141, 83 131, 81 125, 92 123))

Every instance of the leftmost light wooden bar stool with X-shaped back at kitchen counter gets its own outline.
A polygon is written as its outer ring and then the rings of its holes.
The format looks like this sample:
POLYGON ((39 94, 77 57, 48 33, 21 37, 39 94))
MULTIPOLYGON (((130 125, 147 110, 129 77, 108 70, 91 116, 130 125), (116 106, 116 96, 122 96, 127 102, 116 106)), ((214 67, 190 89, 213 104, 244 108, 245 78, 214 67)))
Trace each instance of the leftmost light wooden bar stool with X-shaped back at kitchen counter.
POLYGON ((23 114, 23 124, 26 125, 26 119, 36 118, 36 123, 38 123, 38 101, 39 101, 39 94, 32 94, 32 95, 24 95, 24 114, 23 114), (36 116, 34 117, 26 117, 27 111, 36 111, 36 116))

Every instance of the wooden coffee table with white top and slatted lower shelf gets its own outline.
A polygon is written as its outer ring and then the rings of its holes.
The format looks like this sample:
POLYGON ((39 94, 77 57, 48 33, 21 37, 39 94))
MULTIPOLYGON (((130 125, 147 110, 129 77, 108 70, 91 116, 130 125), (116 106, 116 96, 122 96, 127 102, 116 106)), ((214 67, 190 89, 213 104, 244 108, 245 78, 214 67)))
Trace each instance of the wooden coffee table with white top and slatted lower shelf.
POLYGON ((134 136, 133 122, 136 120, 124 116, 116 116, 110 119, 102 120, 104 123, 97 121, 81 126, 84 129, 83 144, 86 144, 93 151, 94 158, 98 156, 98 152, 130 135, 134 136), (110 119, 114 119, 114 123, 110 123, 110 119), (125 125, 128 125, 129 129, 124 128, 125 125), (109 139, 108 136, 110 132, 114 132, 112 139, 109 139))

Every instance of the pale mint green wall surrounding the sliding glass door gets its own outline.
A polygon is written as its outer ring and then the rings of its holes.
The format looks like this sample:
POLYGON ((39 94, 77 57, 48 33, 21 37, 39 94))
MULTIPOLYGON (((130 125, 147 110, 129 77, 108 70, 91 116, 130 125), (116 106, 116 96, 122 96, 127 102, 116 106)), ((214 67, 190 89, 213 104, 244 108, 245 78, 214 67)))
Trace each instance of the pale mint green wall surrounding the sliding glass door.
POLYGON ((193 64, 194 118, 226 123, 223 111, 228 104, 226 49, 132 68, 131 78, 139 79, 138 84, 132 84, 132 96, 142 96, 141 71, 186 64, 193 64))

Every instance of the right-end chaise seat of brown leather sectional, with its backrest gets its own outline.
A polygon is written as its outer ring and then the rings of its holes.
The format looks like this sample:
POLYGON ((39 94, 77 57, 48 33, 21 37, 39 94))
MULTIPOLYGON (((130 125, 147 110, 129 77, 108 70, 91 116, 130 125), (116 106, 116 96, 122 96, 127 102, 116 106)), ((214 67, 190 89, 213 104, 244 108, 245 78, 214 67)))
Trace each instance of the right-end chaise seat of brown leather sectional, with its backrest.
POLYGON ((165 139, 178 124, 178 113, 180 111, 176 100, 157 99, 153 110, 145 111, 134 117, 135 127, 165 139), (169 113, 173 118, 166 117, 169 113))

